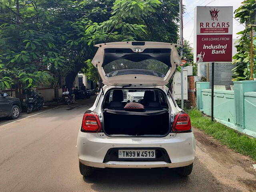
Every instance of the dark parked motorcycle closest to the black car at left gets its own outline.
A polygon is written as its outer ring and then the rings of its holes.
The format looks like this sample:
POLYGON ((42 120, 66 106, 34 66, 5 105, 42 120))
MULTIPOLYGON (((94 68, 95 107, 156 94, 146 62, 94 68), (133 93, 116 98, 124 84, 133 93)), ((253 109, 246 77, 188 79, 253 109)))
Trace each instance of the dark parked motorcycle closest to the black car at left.
POLYGON ((44 105, 44 97, 39 96, 34 90, 27 90, 29 97, 26 99, 27 113, 33 110, 40 110, 44 105))

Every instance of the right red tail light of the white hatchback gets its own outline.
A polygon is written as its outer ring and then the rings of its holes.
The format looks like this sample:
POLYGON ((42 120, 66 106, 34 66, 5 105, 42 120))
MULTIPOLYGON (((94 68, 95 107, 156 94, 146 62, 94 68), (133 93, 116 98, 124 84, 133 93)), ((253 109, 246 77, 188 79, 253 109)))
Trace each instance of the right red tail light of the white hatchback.
POLYGON ((174 132, 190 132, 191 122, 189 115, 187 113, 178 113, 172 127, 174 132))

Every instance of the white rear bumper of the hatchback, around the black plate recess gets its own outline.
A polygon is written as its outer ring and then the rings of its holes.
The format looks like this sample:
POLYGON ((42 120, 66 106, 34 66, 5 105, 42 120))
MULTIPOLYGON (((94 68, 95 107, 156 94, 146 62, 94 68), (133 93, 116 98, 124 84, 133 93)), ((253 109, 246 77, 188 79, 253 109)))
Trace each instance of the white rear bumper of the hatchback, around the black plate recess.
POLYGON ((79 161, 98 168, 158 168, 181 167, 193 163, 196 144, 193 133, 169 134, 164 138, 111 138, 103 133, 79 132, 77 140, 79 161), (171 135, 171 136, 170 136, 171 135), (108 161, 104 157, 110 148, 164 148, 171 163, 164 161, 108 161), (104 162, 104 163, 103 163, 104 162))

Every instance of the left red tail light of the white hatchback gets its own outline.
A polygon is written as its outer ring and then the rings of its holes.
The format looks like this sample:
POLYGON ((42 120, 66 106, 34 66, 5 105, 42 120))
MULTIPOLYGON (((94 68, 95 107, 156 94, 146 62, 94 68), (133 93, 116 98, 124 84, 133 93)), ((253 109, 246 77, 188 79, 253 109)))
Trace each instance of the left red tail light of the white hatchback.
POLYGON ((86 112, 83 117, 82 131, 83 132, 100 132, 100 118, 95 112, 86 112))

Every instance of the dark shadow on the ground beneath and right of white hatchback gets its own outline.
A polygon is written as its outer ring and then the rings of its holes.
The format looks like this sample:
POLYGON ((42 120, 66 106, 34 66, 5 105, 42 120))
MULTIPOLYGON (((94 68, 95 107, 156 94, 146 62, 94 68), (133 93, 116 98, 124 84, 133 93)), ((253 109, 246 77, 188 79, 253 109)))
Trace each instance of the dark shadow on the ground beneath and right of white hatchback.
POLYGON ((85 184, 90 184, 93 190, 98 192, 210 192, 232 191, 235 188, 224 186, 212 174, 196 160, 194 170, 188 177, 181 177, 175 169, 97 169, 94 175, 83 177, 85 184))

